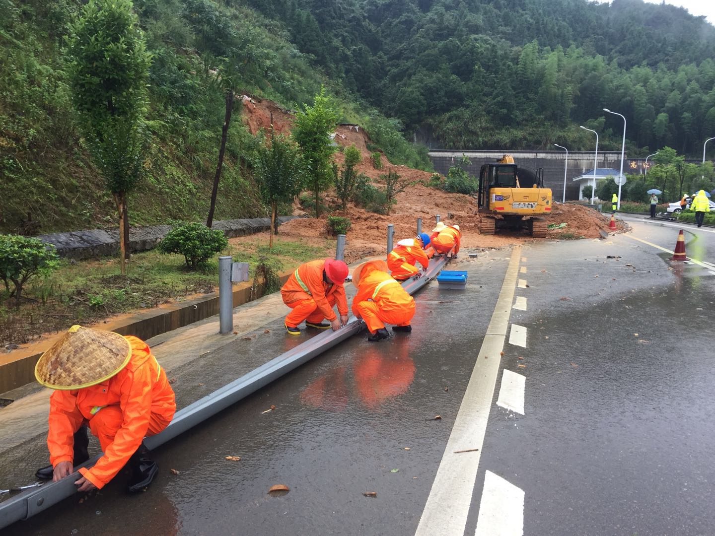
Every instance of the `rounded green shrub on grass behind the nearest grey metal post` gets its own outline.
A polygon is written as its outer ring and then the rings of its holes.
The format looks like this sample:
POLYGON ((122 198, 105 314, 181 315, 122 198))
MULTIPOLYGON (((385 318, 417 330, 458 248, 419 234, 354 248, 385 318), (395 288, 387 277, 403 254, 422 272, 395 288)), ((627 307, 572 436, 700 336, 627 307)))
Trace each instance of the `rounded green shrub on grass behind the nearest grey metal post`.
POLYGON ((188 223, 169 231, 159 244, 159 251, 182 254, 187 266, 195 270, 227 246, 228 240, 222 231, 188 223))

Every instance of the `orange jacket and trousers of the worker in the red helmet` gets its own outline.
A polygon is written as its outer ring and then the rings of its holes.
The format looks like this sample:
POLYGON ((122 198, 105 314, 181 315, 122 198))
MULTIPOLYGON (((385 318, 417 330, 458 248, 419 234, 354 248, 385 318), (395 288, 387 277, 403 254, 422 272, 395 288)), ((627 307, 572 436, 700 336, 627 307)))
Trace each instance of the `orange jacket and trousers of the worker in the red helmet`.
POLYGON ((322 278, 325 259, 301 264, 280 289, 283 303, 293 309, 285 317, 287 326, 297 326, 303 320, 332 322, 337 318, 332 310, 347 314, 345 287, 342 284, 327 284, 322 278))

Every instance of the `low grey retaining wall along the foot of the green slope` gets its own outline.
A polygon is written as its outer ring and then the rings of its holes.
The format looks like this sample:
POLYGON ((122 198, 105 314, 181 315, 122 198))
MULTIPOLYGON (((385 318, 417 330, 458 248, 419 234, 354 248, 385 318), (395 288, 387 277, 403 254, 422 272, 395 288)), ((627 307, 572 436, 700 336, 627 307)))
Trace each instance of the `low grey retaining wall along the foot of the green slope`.
MULTIPOLYGON (((278 223, 289 222, 299 216, 280 216, 278 223)), ((152 225, 137 227, 129 231, 129 252, 144 252, 157 247, 171 230, 171 225, 152 225)), ((214 222, 214 229, 220 229, 229 237, 242 237, 247 234, 263 232, 270 229, 270 218, 225 219, 214 222)), ((71 231, 64 233, 41 234, 38 237, 44 242, 54 244, 57 254, 69 259, 90 259, 119 253, 119 230, 89 229, 86 231, 71 231)))

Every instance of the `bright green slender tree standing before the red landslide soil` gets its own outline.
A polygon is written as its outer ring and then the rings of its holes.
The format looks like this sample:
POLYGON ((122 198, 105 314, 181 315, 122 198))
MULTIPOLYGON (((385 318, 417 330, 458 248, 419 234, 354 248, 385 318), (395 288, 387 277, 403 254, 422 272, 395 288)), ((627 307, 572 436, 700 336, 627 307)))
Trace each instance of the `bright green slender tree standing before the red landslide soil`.
POLYGON ((312 106, 305 104, 293 124, 293 139, 300 145, 307 167, 307 186, 315 194, 315 217, 320 217, 320 192, 330 185, 330 157, 335 147, 330 133, 335 130, 339 114, 325 87, 315 95, 312 106))

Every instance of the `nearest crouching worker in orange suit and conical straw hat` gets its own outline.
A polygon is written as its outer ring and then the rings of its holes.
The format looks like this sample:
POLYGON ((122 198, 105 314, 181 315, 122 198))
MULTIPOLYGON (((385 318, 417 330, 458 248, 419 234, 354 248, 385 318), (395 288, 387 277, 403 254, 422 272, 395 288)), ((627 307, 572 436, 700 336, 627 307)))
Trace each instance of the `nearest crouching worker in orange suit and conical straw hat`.
POLYGON ((147 487, 157 474, 144 436, 169 425, 176 402, 164 369, 137 337, 72 326, 35 366, 37 381, 55 389, 49 399, 50 465, 36 472, 54 481, 89 459, 87 427, 104 454, 80 468, 77 491, 102 489, 129 462, 129 491, 147 487))

